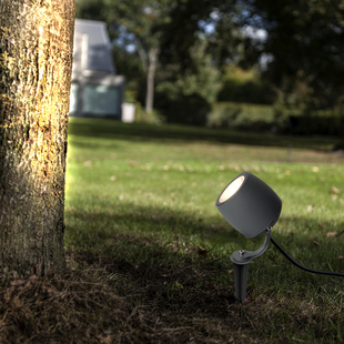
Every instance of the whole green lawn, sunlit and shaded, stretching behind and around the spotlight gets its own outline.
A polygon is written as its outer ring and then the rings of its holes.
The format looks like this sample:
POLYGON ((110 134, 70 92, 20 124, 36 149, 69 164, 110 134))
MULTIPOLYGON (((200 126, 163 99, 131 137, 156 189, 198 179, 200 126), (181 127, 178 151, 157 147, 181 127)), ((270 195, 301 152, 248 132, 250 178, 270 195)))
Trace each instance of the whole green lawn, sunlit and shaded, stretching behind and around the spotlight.
POLYGON ((326 236, 344 229, 336 143, 71 118, 69 266, 142 307, 150 333, 153 323, 180 327, 160 334, 166 342, 343 342, 344 280, 306 274, 273 245, 250 264, 247 301, 235 302, 230 254, 264 239, 245 240, 214 205, 235 175, 251 171, 282 199, 273 237, 305 266, 344 272, 344 234, 326 236))

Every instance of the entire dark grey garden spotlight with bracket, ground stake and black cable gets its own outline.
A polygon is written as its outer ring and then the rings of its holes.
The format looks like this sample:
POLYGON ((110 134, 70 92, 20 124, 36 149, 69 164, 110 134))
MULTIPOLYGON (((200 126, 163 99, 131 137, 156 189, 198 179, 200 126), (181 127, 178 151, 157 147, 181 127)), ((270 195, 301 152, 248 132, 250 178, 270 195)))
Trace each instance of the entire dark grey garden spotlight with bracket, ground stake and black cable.
POLYGON ((223 217, 247 239, 266 234, 263 245, 256 251, 240 250, 231 254, 236 299, 245 300, 249 263, 266 251, 270 241, 300 269, 312 273, 344 276, 342 273, 317 271, 299 264, 273 240, 271 230, 280 217, 282 201, 267 184, 252 173, 243 172, 225 186, 217 198, 216 206, 223 217))

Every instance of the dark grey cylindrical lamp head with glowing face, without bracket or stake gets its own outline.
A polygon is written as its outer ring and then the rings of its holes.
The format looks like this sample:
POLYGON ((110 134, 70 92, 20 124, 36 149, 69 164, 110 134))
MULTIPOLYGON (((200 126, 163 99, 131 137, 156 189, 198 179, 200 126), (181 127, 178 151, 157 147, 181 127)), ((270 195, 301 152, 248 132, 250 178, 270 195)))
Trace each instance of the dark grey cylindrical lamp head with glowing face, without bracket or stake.
POLYGON ((221 192, 216 206, 236 231, 251 239, 276 223, 282 201, 262 180, 243 172, 221 192))

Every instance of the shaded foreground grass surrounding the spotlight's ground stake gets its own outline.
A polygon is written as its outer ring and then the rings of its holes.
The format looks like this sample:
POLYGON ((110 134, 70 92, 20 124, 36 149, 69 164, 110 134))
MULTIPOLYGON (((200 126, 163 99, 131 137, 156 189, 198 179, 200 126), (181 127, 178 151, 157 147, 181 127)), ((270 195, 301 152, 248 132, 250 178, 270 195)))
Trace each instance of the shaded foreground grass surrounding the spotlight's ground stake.
MULTIPOLYGON (((123 335, 136 326, 142 343, 160 343, 158 336, 169 343, 337 340, 344 322, 343 308, 336 302, 340 282, 295 272, 297 269, 271 245, 251 264, 249 296, 242 304, 234 299, 229 255, 210 250, 208 257, 202 257, 195 244, 188 242, 190 235, 204 234, 209 226, 183 212, 169 215, 155 209, 155 213, 160 217, 143 208, 122 214, 68 212, 68 223, 71 217, 78 223, 68 224, 69 265, 110 286, 130 305, 123 335), (131 231, 140 224, 144 229, 150 224, 149 231, 131 231), (175 237, 166 241, 162 237, 168 230, 175 237), (78 244, 78 235, 82 235, 79 240, 83 246, 78 244)), ((316 221, 282 217, 280 222, 274 236, 296 260, 314 269, 328 270, 327 263, 334 270, 341 269, 336 254, 343 239, 326 237, 332 223, 322 223, 316 236, 307 236, 301 231, 283 233, 283 229, 292 223, 307 230, 318 226, 316 221)), ((210 232, 222 235, 226 230, 217 225, 210 232)), ((226 240, 236 239, 230 231, 226 240)))

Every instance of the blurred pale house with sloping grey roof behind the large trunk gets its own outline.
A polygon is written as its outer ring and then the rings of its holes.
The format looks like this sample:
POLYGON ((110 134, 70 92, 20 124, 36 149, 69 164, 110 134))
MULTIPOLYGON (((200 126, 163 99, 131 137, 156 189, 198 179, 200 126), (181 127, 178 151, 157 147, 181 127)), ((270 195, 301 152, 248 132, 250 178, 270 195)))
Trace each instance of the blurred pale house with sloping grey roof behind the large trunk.
POLYGON ((104 22, 75 20, 70 114, 122 119, 124 77, 117 75, 104 22))

